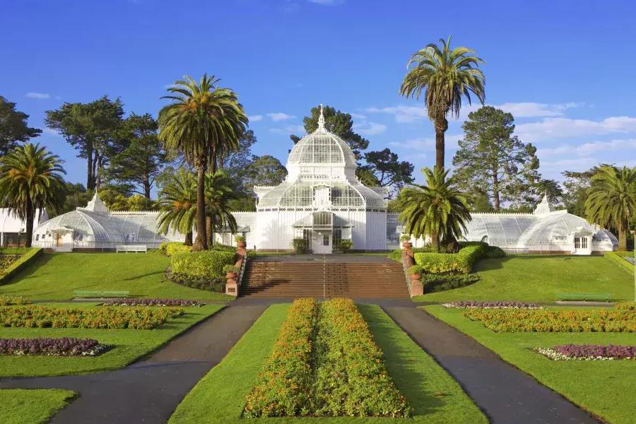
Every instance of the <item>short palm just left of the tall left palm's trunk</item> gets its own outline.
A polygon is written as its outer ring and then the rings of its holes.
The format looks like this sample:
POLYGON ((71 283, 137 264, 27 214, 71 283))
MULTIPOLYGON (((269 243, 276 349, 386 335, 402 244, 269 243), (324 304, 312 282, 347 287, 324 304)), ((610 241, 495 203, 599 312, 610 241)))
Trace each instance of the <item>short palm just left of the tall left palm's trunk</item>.
POLYGON ((171 174, 159 192, 160 214, 157 226, 167 234, 169 230, 186 235, 185 244, 192 245, 192 229, 196 218, 196 177, 179 168, 171 174))

